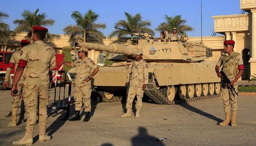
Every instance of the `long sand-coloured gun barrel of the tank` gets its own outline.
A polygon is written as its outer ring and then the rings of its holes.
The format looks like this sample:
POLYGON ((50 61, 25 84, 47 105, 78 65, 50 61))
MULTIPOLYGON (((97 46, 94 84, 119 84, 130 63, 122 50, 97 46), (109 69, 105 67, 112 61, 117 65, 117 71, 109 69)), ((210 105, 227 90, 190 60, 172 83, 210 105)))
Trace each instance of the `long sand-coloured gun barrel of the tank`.
POLYGON ((118 53, 118 54, 126 54, 126 55, 135 55, 137 50, 139 49, 138 46, 130 45, 130 46, 123 46, 120 44, 111 44, 111 45, 100 45, 100 44, 93 44, 89 42, 75 42, 75 46, 77 47, 85 47, 92 50, 98 51, 109 51, 110 53, 118 53))

